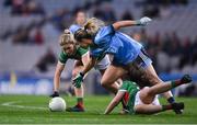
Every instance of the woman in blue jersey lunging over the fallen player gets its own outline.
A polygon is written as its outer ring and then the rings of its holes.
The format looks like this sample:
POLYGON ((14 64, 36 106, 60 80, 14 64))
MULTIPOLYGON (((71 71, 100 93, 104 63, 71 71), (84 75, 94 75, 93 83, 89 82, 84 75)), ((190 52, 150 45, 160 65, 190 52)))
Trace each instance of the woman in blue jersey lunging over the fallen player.
MULTIPOLYGON (((142 45, 117 31, 126 26, 147 25, 151 19, 142 18, 137 21, 119 21, 105 26, 101 20, 90 19, 83 29, 74 33, 74 38, 81 47, 90 47, 91 56, 88 65, 73 80, 74 86, 80 87, 83 76, 96 64, 97 58, 106 54, 109 55, 112 65, 102 77, 101 83, 104 88, 108 88, 126 73, 129 73, 132 80, 138 80, 136 81, 138 83, 146 82, 150 86, 163 83, 142 45)), ((174 103, 170 91, 165 92, 164 96, 170 103, 174 103)))

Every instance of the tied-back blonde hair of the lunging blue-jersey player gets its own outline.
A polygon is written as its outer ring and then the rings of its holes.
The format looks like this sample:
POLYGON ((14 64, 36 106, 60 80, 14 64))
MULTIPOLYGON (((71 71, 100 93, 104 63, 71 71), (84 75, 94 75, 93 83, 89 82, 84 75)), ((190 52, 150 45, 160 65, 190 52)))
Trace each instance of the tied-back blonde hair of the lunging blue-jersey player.
POLYGON ((102 26, 105 26, 105 23, 102 20, 91 18, 84 24, 84 30, 86 30, 88 34, 95 35, 102 26))

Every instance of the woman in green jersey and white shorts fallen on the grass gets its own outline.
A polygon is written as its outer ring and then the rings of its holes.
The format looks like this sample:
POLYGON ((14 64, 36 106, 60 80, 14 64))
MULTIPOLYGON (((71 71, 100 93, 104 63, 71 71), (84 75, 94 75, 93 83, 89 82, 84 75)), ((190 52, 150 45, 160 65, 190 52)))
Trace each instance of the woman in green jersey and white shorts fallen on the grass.
POLYGON ((119 91, 106 107, 105 114, 109 114, 121 100, 126 103, 124 114, 154 114, 167 110, 184 110, 184 103, 182 102, 161 105, 158 100, 158 94, 166 92, 175 87, 189 83, 190 81, 190 76, 185 75, 179 80, 155 84, 150 88, 144 87, 141 90, 139 90, 135 82, 124 81, 119 91))

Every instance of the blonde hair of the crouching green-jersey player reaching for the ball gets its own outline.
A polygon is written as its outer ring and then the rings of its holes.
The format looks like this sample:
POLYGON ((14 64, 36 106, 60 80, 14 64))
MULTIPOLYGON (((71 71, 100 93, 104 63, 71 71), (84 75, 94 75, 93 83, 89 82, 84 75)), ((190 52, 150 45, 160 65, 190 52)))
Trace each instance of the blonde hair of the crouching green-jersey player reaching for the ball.
POLYGON ((65 46, 66 44, 76 44, 74 36, 69 30, 65 30, 59 38, 60 46, 65 46))

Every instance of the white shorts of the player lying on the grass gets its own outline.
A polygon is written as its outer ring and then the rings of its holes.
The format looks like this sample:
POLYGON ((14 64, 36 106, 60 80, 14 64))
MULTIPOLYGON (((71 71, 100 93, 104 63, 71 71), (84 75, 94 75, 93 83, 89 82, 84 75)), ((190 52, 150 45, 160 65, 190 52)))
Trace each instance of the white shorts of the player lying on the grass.
MULTIPOLYGON (((141 101, 141 99, 140 99, 139 95, 140 95, 140 91, 138 91, 138 92, 136 93, 135 106, 138 105, 138 104, 144 104, 144 103, 141 101)), ((153 105, 160 105, 160 101, 158 100, 158 95, 155 95, 155 98, 154 98, 154 100, 152 101, 151 104, 153 104, 153 105)))

